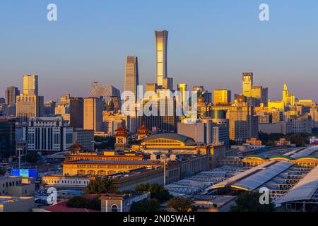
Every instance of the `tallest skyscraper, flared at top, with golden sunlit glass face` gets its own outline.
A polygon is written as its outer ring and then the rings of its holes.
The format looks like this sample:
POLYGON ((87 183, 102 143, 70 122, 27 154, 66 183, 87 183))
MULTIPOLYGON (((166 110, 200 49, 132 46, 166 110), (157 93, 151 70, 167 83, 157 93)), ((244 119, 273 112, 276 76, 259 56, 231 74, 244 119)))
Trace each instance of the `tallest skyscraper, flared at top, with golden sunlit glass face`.
POLYGON ((167 78, 167 37, 167 30, 155 31, 157 84, 161 86, 163 78, 167 78))

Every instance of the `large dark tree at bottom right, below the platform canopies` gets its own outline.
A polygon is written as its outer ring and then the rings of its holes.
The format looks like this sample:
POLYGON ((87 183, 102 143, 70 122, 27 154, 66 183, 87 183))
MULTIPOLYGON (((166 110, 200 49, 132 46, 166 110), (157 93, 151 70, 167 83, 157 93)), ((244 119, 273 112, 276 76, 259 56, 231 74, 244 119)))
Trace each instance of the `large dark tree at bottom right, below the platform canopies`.
POLYGON ((269 198, 269 204, 259 203, 261 194, 254 191, 244 191, 235 198, 235 206, 232 206, 231 212, 273 212, 275 206, 269 198))

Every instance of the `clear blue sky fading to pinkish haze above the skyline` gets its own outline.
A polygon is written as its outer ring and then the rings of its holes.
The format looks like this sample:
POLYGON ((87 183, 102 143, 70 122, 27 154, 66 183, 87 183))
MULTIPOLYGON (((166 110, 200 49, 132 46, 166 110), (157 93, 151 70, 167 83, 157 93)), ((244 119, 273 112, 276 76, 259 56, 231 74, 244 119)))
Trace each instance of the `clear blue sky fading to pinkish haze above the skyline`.
POLYGON ((281 98, 283 83, 318 101, 317 0, 1 0, 0 96, 35 73, 40 94, 89 95, 90 82, 122 90, 127 55, 140 82, 155 81, 154 30, 168 30, 168 73, 175 83, 241 91, 241 74, 281 98), (47 21, 47 4, 58 21, 47 21), (259 20, 269 4, 270 21, 259 20))

